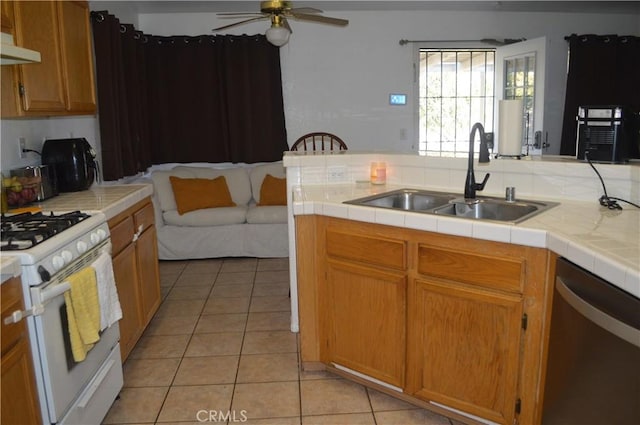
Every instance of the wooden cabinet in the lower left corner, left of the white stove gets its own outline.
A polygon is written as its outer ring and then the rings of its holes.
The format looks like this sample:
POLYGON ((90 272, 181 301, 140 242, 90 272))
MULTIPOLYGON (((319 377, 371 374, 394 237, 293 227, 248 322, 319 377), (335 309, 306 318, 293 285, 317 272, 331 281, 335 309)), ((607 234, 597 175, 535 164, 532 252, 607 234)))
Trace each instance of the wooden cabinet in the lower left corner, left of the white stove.
POLYGON ((40 407, 25 320, 5 324, 16 310, 24 310, 20 278, 2 284, 2 377, 0 423, 39 424, 40 407))

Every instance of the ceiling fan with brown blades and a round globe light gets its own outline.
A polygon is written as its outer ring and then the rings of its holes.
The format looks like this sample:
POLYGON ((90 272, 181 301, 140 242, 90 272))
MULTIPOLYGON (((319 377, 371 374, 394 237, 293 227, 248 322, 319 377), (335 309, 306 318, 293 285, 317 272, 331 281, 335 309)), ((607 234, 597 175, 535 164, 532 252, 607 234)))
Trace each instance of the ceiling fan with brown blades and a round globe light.
POLYGON ((214 28, 212 31, 220 31, 235 27, 236 25, 246 24, 248 22, 270 19, 271 27, 265 32, 267 40, 275 46, 283 46, 287 41, 289 41, 289 36, 292 33, 287 19, 318 22, 342 27, 349 24, 349 21, 346 19, 331 18, 329 16, 320 15, 320 13, 322 13, 322 10, 315 9, 313 7, 294 8, 290 1, 261 1, 260 12, 218 13, 218 16, 223 18, 248 18, 233 24, 214 28))

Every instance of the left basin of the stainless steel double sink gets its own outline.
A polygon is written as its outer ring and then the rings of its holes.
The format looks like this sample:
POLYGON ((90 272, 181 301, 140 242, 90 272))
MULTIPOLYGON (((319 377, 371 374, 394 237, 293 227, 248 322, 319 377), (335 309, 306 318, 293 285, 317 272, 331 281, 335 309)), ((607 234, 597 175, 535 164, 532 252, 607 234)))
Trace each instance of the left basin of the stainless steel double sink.
POLYGON ((457 195, 441 192, 430 192, 416 189, 400 189, 385 192, 366 198, 346 201, 346 204, 368 205, 379 208, 392 208, 405 211, 432 210, 456 198, 457 195))

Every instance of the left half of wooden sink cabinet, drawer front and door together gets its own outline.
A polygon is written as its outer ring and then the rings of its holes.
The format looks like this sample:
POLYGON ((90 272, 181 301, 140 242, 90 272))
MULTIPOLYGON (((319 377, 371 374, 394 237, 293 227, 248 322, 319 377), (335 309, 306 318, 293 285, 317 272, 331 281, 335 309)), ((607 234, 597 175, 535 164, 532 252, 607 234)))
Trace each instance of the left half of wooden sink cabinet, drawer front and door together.
POLYGON ((357 228, 327 229, 327 362, 402 388, 406 247, 357 228))

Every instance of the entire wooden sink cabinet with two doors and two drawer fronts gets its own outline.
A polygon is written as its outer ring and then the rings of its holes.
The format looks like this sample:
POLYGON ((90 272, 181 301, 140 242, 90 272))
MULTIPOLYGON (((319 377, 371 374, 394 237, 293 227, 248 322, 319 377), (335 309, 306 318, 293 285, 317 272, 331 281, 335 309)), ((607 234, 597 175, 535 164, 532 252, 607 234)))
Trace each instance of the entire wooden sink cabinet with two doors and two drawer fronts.
POLYGON ((320 216, 296 227, 303 366, 346 366, 463 422, 535 423, 547 250, 320 216))

